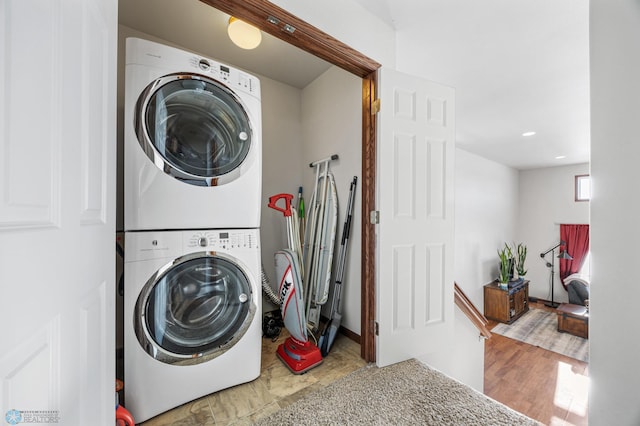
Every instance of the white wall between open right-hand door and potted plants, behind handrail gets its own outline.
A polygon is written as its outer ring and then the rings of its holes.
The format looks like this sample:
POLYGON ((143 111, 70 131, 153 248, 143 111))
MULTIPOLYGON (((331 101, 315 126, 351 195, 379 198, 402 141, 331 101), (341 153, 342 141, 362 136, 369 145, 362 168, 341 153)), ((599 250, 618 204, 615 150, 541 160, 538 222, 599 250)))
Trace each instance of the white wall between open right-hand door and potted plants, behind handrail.
MULTIPOLYGON (((484 311, 483 286, 498 274, 496 250, 517 229, 518 172, 462 149, 456 150, 455 272, 465 294, 484 311)), ((451 375, 482 392, 484 341, 456 309, 451 375)))

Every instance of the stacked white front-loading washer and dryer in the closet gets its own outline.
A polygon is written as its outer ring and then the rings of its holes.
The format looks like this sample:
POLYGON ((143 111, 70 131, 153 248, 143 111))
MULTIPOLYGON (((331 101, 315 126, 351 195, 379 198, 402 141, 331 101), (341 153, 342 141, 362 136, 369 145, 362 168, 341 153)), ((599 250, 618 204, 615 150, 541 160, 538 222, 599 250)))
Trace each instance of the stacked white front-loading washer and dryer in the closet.
POLYGON ((259 80, 129 38, 126 407, 137 422, 260 375, 259 80))

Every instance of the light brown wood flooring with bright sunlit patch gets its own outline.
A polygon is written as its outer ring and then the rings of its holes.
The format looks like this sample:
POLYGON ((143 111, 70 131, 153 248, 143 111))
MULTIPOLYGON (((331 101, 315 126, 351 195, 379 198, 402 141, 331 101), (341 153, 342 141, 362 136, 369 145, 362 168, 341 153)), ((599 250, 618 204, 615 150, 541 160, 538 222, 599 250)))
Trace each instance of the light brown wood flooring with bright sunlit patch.
POLYGON ((545 425, 587 425, 588 387, 585 362, 497 334, 485 343, 484 393, 545 425))

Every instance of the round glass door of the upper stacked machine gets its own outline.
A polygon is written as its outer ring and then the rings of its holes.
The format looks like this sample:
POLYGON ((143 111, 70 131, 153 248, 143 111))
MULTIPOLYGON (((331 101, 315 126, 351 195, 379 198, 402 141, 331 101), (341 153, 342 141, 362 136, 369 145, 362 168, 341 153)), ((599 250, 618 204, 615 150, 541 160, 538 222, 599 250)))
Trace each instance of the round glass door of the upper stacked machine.
POLYGON ((178 73, 155 80, 138 98, 134 119, 149 159, 192 185, 237 179, 251 150, 252 128, 241 100, 203 75, 178 73))

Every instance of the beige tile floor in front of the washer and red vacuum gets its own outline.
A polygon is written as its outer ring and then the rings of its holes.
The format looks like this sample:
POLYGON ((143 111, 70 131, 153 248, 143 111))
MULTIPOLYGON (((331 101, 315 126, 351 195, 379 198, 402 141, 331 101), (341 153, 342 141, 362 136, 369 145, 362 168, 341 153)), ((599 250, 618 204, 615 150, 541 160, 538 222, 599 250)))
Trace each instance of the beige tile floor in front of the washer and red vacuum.
POLYGON ((275 353, 285 333, 275 342, 262 339, 258 379, 181 405, 141 425, 250 425, 366 365, 360 358, 360 345, 338 334, 322 364, 305 374, 292 374, 275 353))

